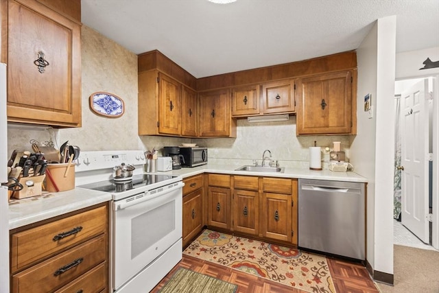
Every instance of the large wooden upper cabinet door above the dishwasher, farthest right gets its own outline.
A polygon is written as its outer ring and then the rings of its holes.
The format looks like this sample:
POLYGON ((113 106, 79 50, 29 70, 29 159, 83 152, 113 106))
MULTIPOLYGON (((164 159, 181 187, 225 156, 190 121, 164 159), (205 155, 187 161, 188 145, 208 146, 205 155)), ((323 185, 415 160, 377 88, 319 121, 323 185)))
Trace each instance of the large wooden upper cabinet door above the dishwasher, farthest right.
POLYGON ((297 134, 351 133, 351 71, 302 78, 297 95, 297 134))

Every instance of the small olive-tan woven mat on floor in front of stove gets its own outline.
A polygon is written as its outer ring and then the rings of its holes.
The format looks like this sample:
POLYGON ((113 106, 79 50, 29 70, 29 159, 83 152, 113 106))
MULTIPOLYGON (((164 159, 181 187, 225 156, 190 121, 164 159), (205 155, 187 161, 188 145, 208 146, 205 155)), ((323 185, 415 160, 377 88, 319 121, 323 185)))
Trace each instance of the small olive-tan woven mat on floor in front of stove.
POLYGON ((179 268, 161 288, 161 293, 198 293, 222 292, 235 293, 238 286, 226 281, 215 279, 199 272, 179 268))

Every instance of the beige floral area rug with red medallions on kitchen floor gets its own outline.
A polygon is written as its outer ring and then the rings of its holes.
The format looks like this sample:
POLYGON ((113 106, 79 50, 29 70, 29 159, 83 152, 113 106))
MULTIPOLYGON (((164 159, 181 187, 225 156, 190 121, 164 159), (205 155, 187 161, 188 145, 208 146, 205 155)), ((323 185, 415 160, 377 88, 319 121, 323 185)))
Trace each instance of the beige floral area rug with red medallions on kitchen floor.
POLYGON ((307 292, 335 293, 327 259, 294 248, 204 230, 183 253, 307 292))

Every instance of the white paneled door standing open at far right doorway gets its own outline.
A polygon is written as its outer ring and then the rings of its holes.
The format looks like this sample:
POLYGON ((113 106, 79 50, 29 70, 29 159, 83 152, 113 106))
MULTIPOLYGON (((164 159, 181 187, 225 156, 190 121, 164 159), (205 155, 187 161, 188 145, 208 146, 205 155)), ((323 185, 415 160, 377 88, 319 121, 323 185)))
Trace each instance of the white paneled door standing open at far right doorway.
POLYGON ((401 95, 401 218, 414 235, 429 243, 428 79, 401 95))

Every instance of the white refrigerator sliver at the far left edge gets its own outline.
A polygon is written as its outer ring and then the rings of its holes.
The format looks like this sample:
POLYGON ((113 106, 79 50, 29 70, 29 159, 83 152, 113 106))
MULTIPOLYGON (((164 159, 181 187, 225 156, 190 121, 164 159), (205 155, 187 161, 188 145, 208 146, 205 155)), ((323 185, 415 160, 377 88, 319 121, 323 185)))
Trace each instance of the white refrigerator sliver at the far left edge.
MULTIPOLYGON (((0 63, 0 183, 8 183, 8 119, 6 113, 6 65, 0 63)), ((9 255, 8 187, 0 186, 0 255, 9 255)), ((9 292, 9 258, 0 260, 0 292, 9 292)))

